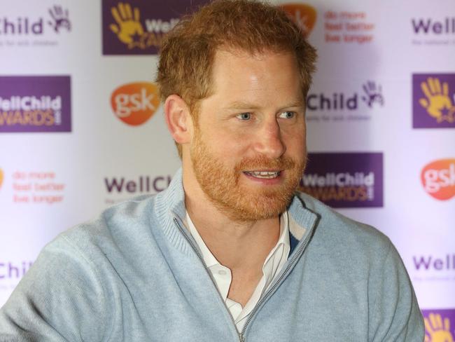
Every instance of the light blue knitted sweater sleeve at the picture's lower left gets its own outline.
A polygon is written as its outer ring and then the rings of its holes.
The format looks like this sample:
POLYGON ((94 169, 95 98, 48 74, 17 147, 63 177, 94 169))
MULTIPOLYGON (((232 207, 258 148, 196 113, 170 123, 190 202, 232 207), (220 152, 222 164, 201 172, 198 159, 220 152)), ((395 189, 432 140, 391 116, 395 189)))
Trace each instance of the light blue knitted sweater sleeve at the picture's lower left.
POLYGON ((0 341, 102 341, 104 291, 90 260, 60 236, 0 310, 0 341))

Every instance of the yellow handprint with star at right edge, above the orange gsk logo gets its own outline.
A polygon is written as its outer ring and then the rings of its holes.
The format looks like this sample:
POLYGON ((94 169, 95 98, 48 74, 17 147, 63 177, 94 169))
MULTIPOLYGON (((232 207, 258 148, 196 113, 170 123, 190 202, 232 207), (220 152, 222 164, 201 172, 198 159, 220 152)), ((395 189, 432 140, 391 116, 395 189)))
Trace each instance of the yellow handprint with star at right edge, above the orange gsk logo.
POLYGON ((430 116, 436 119, 438 123, 455 121, 455 106, 451 103, 449 97, 449 85, 447 82, 441 83, 438 78, 428 77, 426 82, 420 84, 425 98, 419 100, 420 105, 426 109, 430 116), (447 113, 447 114, 444 114, 447 113))

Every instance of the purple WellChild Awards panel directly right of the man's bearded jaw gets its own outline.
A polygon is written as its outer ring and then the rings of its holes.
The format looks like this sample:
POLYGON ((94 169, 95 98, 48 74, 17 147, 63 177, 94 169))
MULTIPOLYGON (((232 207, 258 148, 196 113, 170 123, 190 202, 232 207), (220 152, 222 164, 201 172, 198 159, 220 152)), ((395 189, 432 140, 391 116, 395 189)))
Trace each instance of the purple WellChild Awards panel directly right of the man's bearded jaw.
POLYGON ((309 153, 300 190, 332 207, 382 207, 382 160, 382 153, 309 153))

